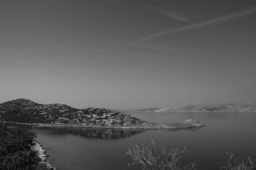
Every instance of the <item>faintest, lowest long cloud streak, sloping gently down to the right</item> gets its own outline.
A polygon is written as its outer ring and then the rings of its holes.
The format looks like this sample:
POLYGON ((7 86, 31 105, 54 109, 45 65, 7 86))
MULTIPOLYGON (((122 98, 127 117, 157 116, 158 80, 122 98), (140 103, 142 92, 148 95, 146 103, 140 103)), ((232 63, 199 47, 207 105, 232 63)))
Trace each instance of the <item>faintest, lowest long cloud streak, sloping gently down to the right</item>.
POLYGON ((79 47, 70 47, 70 46, 49 46, 50 48, 61 48, 61 49, 69 49, 69 50, 92 50, 95 52, 114 52, 114 53, 122 53, 127 55, 139 55, 144 57, 154 57, 154 58, 160 58, 160 59, 169 59, 169 60, 179 60, 183 62, 188 62, 188 59, 180 59, 176 57, 169 57, 164 55, 150 55, 145 53, 135 53, 135 52, 120 52, 118 50, 104 50, 104 49, 98 49, 98 48, 79 48, 79 47))

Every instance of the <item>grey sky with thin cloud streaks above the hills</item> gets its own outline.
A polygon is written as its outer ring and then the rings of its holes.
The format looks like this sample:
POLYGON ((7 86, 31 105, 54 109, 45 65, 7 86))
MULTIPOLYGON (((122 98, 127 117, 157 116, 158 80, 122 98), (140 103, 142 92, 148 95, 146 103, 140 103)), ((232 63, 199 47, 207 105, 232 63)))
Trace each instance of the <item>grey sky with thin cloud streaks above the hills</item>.
POLYGON ((0 103, 256 103, 255 21, 255 0, 0 0, 0 103))

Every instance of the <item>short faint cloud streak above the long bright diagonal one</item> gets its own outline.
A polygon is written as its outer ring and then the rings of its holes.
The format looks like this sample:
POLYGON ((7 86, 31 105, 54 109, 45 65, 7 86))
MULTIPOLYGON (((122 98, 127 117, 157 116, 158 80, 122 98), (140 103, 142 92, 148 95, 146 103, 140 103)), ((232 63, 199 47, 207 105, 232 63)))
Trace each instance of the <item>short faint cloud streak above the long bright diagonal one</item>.
POLYGON ((160 13, 161 15, 168 17, 168 18, 172 18, 174 20, 178 20, 180 22, 188 22, 188 18, 181 16, 177 13, 173 13, 172 11, 165 11, 165 10, 161 10, 160 8, 156 8, 156 7, 152 7, 152 6, 146 6, 146 5, 138 5, 141 8, 145 8, 148 10, 153 10, 156 11, 157 13, 160 13))

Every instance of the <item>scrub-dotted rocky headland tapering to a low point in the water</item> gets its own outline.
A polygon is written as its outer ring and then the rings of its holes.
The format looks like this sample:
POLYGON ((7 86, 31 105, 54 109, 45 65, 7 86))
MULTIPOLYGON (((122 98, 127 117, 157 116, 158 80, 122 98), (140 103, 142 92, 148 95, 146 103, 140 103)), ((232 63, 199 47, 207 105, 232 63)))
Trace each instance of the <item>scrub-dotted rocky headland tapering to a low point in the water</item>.
POLYGON ((104 108, 80 110, 66 104, 38 104, 28 99, 1 103, 0 121, 40 126, 120 129, 181 129, 204 126, 192 119, 171 124, 154 124, 104 108))

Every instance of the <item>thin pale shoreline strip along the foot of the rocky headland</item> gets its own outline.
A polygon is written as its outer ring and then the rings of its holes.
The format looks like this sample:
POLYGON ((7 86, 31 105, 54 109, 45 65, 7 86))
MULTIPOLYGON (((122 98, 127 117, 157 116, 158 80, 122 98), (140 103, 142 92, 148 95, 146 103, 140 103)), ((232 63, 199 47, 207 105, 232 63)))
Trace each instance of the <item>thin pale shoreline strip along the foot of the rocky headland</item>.
MULTIPOLYGON (((173 127, 171 125, 166 125, 166 124, 152 124, 156 125, 156 127, 108 127, 108 126, 84 126, 84 125, 63 125, 63 124, 29 124, 29 123, 20 123, 20 122, 8 122, 8 121, 0 121, 2 123, 10 123, 10 124, 18 124, 18 125, 31 125, 33 127, 81 127, 81 128, 90 128, 90 129, 131 129, 131 130, 178 130, 178 129, 192 129, 192 128, 200 128, 200 127, 205 127, 205 125, 193 125, 193 126, 180 126, 180 127, 173 127)), ((177 124, 177 123, 173 123, 177 124)))

